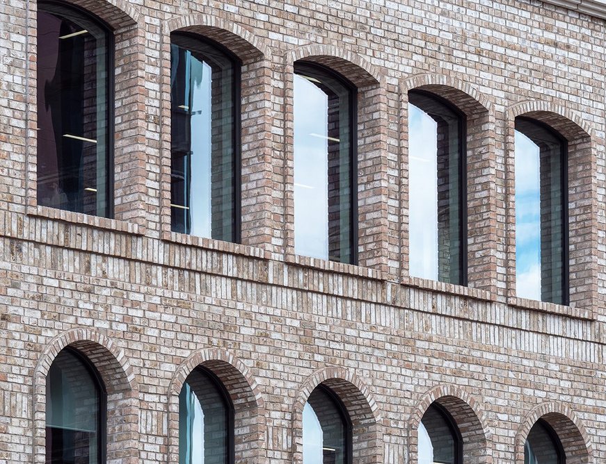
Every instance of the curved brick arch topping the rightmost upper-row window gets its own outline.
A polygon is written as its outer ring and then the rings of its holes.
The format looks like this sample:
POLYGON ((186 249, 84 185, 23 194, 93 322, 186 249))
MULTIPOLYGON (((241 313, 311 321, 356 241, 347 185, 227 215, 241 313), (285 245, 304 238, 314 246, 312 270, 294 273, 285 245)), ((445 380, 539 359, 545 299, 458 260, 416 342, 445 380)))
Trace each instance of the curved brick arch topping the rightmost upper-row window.
POLYGON ((561 134, 569 142, 583 138, 595 139, 595 130, 577 112, 558 103, 543 100, 520 101, 507 108, 510 121, 518 116, 532 117, 561 134))

